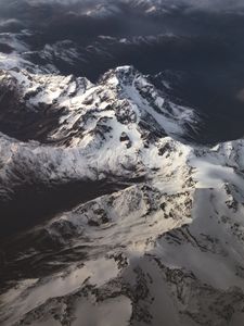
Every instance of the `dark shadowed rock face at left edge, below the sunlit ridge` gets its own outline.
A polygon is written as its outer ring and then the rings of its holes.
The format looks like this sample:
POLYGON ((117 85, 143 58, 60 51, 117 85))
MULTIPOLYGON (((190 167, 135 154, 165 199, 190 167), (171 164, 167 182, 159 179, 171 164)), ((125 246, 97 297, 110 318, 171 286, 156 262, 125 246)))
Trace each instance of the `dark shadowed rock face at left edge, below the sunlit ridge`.
POLYGON ((20 140, 47 140, 47 135, 59 126, 62 108, 41 104, 39 110, 27 105, 27 101, 38 95, 35 92, 23 96, 17 80, 1 71, 0 85, 0 128, 1 131, 20 140))

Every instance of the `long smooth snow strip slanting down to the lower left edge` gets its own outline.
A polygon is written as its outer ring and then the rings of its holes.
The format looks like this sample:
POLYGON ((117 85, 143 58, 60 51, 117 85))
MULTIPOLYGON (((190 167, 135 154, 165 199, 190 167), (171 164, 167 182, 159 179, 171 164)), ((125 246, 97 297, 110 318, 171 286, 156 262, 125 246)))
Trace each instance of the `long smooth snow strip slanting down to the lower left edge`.
POLYGON ((117 265, 113 260, 99 259, 86 262, 80 267, 73 267, 72 271, 64 271, 52 278, 42 280, 25 280, 17 290, 10 290, 2 296, 1 310, 10 316, 9 323, 15 323, 20 317, 29 311, 41 305, 50 298, 57 298, 78 290, 82 284, 89 283, 98 287, 118 273, 117 265))

